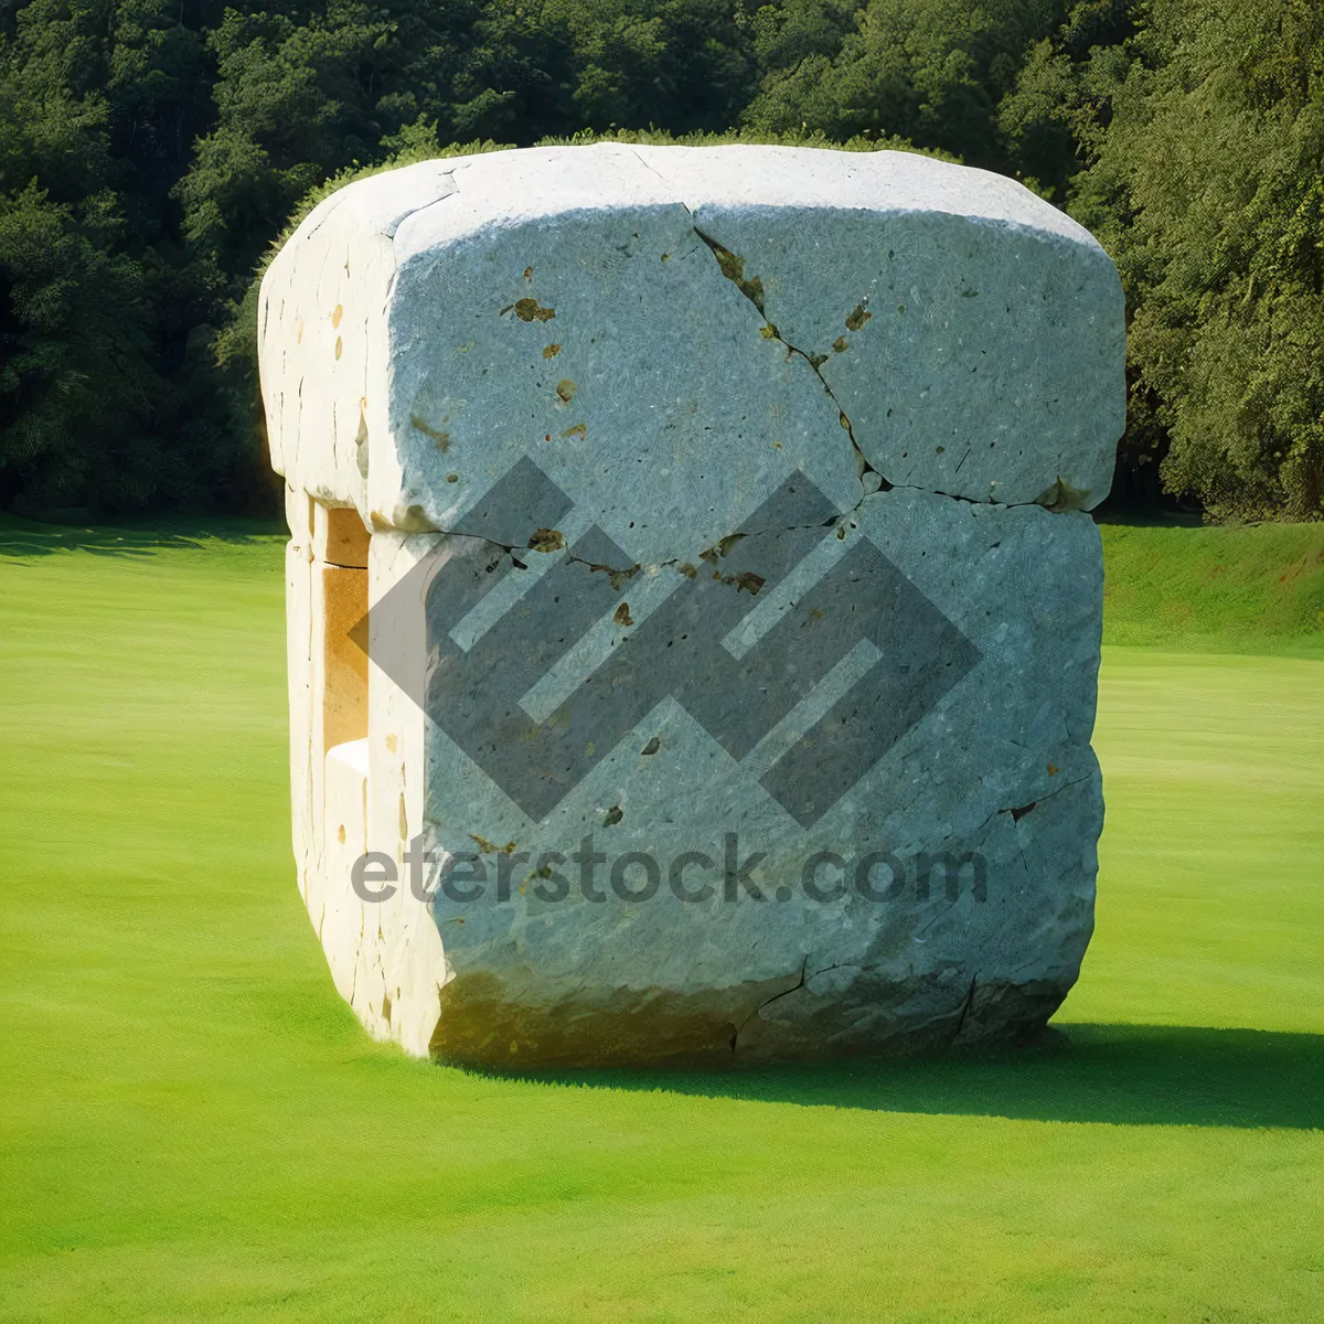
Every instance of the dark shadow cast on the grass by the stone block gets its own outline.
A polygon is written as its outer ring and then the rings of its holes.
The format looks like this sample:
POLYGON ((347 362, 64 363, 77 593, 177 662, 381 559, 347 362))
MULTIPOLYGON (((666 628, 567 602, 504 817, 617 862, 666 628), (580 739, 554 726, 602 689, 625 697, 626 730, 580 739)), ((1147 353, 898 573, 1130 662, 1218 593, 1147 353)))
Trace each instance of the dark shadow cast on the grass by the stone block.
POLYGON ((1000 1057, 518 1076, 884 1112, 1119 1125, 1324 1127, 1324 1035, 1157 1025, 1071 1025, 1064 1031, 1067 1043, 1000 1057))

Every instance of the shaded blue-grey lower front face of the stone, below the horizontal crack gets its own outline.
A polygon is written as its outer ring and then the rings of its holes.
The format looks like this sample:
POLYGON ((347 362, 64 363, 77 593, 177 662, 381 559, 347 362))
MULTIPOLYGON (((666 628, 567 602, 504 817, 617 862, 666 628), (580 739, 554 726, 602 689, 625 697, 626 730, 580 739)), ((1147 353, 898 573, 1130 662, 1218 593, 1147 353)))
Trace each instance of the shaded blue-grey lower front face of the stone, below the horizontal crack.
MULTIPOLYGON (((732 577, 767 580, 757 604, 715 585, 739 604, 735 624, 720 614, 719 598, 704 598, 702 584, 670 568, 651 587, 636 579, 613 593, 604 585, 592 614, 610 620, 616 602, 629 604, 634 626, 617 630, 614 650, 620 657, 637 647, 638 665, 613 671, 606 661, 593 673, 588 658, 593 683, 646 691, 659 655, 690 649, 692 657, 678 677, 662 677, 661 694, 646 692, 625 714, 618 737, 612 728, 604 739, 605 718, 591 723, 601 757, 576 769, 581 780, 547 812, 536 780, 522 782, 516 765, 475 743, 462 714, 448 714, 445 688, 434 687, 429 707, 444 730, 429 741, 429 834, 453 853, 473 853, 477 842, 485 888, 477 902, 442 892, 433 903, 449 935, 450 970, 436 1051, 565 1063, 912 1051, 957 1037, 1016 1038, 1057 1009, 1092 929, 1103 817, 1090 748, 1102 609, 1098 532, 1079 514, 902 491, 866 498, 835 527, 842 539, 826 528, 801 545, 800 531, 784 531, 732 547, 723 559, 732 577), (797 540, 789 560, 801 568, 798 581, 776 575, 779 543, 788 539, 797 540), (866 621, 859 636, 849 624, 842 634, 853 608, 870 605, 859 577, 870 564, 879 576, 894 567, 911 588, 895 610, 876 613, 876 630, 866 621), (647 594, 669 588, 670 618, 666 605, 645 616, 647 594), (688 608, 686 593, 695 596, 688 608), (888 650, 904 654, 907 638, 923 638, 940 620, 955 629, 937 626, 937 665, 959 658, 965 670, 923 711, 927 698, 914 707, 906 671, 931 665, 927 645, 903 655, 900 670, 867 667, 888 650), (822 651, 801 645, 797 667, 833 673, 837 661, 837 688, 829 679, 826 695, 822 686, 814 691, 820 710, 793 711, 781 723, 780 708, 760 711, 777 703, 759 650, 775 662, 779 630, 782 638, 824 632, 822 651), (741 645, 752 671, 724 662, 741 645), (869 654, 863 667, 861 647, 869 654), (715 694, 702 692, 708 663, 719 667, 715 694), (910 715, 894 722, 907 706, 910 715), (813 744, 820 711, 825 724, 817 732, 829 739, 822 749, 813 744), (759 730, 743 732, 747 719, 759 730), (862 775, 833 764, 853 730, 882 751, 862 775), (809 763, 801 768, 797 740, 806 736, 809 763), (494 794, 490 777, 511 793, 494 794), (808 802, 812 796, 817 804, 808 802), (653 895, 637 904, 629 894, 647 891, 647 866, 613 873, 636 851, 659 869, 653 895), (591 854, 601 859, 585 875, 581 861, 591 854), (670 890, 671 867, 686 858, 694 865, 685 866, 682 883, 711 884, 706 900, 682 902, 670 890), (751 858, 747 886, 740 870, 751 858), (825 899, 808 895, 806 878, 825 899)), ((457 576, 466 551, 455 549, 457 576)), ((473 553, 482 563, 474 577, 506 573, 487 571, 490 549, 473 553)), ((559 580, 544 572, 548 602, 534 589, 489 632, 511 666, 515 639, 544 609, 576 633, 576 573, 592 576, 573 565, 559 580)), ((454 629, 445 598, 432 604, 434 642, 454 629)), ((507 706, 502 677, 490 675, 465 678, 457 692, 496 715, 507 706)), ((531 769, 577 752, 575 710, 592 699, 584 687, 575 694, 536 732, 524 723, 531 769)), ((503 740, 495 716, 485 731, 503 740)))

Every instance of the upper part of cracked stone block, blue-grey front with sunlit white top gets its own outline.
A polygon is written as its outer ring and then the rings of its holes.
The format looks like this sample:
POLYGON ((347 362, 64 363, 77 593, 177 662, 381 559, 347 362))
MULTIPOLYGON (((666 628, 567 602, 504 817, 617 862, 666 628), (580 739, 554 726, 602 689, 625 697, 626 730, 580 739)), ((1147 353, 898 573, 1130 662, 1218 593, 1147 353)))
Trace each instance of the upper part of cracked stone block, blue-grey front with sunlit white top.
POLYGON ((475 160, 397 234, 381 518, 454 530, 515 453, 617 542, 633 520, 645 563, 797 469, 842 503, 857 462, 972 500, 1107 494, 1120 282, 1019 185, 904 154, 520 155, 518 187, 475 160))

